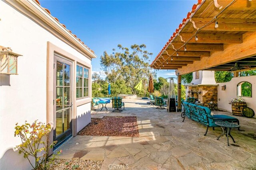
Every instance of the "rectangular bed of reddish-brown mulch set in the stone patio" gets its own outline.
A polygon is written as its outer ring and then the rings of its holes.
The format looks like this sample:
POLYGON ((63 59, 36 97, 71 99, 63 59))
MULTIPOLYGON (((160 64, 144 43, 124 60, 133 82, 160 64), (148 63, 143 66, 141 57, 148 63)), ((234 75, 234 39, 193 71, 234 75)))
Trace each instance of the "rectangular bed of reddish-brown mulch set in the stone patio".
POLYGON ((136 116, 104 116, 91 121, 77 135, 140 137, 136 116))

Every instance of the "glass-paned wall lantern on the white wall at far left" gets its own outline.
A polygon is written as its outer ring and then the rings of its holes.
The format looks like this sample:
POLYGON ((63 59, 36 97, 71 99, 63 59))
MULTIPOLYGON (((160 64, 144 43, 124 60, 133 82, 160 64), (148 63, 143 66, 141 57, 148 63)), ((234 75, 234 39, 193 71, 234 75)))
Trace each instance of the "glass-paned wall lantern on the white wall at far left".
POLYGON ((0 74, 18 74, 18 57, 22 56, 12 52, 10 47, 0 46, 0 74))

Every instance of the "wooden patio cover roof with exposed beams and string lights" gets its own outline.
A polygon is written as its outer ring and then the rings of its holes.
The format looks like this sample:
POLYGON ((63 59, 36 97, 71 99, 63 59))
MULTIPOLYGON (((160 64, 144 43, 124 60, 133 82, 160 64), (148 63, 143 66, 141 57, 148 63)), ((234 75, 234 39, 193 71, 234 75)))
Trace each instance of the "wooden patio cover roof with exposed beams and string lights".
POLYGON ((231 48, 249 48, 249 44, 242 44, 254 33, 256 0, 198 0, 150 66, 176 70, 176 74, 196 70, 255 69, 256 55, 248 53, 246 57, 236 58, 230 52, 231 48), (221 60, 217 59, 218 54, 230 56, 221 60))

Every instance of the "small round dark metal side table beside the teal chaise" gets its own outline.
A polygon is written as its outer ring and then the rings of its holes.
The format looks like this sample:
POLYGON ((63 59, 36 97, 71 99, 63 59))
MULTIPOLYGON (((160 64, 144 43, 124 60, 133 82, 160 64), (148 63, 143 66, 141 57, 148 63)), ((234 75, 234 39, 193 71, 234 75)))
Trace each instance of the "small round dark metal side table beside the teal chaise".
MULTIPOLYGON (((234 124, 234 123, 230 123, 228 121, 216 121, 215 122, 216 125, 220 126, 222 129, 222 134, 217 138, 217 140, 220 139, 221 136, 225 135, 227 136, 227 141, 228 141, 228 136, 230 136, 233 139, 233 142, 235 142, 234 138, 232 137, 232 135, 230 134, 230 131, 232 128, 238 128, 240 127, 240 125, 234 124), (224 130, 224 128, 226 130, 224 130)), ((229 142, 228 142, 228 146, 229 146, 229 142)))

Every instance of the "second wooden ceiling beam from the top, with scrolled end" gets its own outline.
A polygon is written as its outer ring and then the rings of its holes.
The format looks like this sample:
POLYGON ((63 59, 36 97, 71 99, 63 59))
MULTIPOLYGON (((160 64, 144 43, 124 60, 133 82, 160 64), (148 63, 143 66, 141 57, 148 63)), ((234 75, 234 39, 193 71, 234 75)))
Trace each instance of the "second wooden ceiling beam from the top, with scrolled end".
POLYGON ((217 18, 218 28, 215 28, 215 21, 209 23, 211 18, 191 18, 190 22, 193 23, 195 29, 201 31, 256 31, 256 20, 252 19, 224 19, 217 18), (208 24, 209 23, 209 24, 208 24), (207 26, 205 26, 208 24, 207 26))

